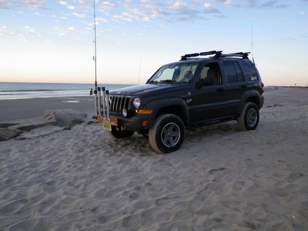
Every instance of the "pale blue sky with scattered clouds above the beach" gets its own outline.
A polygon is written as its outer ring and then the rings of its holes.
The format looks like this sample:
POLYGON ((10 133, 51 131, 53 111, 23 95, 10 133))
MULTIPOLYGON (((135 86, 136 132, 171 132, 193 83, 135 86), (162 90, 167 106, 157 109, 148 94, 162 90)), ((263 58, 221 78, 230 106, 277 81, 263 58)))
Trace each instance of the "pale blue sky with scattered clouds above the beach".
MULTIPOLYGON (((96 0, 95 7, 99 84, 145 83, 187 53, 251 52, 253 32, 265 86, 308 86, 308 0, 96 0)), ((0 82, 94 83, 93 27, 93 1, 0 0, 0 82)))

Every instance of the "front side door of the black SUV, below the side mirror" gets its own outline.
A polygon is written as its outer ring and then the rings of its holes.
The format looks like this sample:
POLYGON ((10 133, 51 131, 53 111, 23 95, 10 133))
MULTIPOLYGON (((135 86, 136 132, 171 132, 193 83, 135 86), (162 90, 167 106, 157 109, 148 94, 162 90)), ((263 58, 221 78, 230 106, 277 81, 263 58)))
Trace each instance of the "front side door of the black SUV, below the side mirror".
POLYGON ((201 87, 194 89, 191 121, 210 120, 223 116, 225 114, 226 94, 219 62, 207 63, 203 67, 200 74, 200 83, 201 87), (202 84, 210 83, 211 81, 208 80, 212 78, 212 84, 202 84))

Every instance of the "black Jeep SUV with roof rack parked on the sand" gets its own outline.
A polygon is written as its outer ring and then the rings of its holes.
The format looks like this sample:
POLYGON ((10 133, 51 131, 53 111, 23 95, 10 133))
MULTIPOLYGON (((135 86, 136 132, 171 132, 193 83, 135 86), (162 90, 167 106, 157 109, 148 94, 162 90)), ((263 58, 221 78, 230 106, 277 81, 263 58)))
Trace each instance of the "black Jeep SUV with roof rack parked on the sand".
POLYGON ((110 133, 118 139, 142 133, 155 151, 166 153, 180 148, 185 129, 237 120, 241 130, 254 130, 262 88, 248 52, 186 54, 159 68, 146 84, 110 92, 110 133))

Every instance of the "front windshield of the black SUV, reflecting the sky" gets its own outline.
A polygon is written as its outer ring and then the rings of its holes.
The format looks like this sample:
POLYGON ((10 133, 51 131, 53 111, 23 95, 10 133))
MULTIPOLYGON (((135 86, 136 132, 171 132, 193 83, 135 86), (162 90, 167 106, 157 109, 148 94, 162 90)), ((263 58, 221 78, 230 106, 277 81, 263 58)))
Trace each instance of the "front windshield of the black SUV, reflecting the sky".
POLYGON ((162 66, 148 83, 190 83, 198 63, 177 63, 162 66))

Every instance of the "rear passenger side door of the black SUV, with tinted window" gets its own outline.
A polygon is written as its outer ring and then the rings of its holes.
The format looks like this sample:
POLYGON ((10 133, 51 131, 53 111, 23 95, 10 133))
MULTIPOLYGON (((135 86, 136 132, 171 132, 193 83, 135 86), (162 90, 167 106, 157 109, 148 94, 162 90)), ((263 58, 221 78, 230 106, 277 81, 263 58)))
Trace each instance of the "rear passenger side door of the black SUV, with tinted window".
POLYGON ((237 61, 223 61, 226 76, 226 115, 236 114, 242 93, 247 90, 243 71, 237 61))

